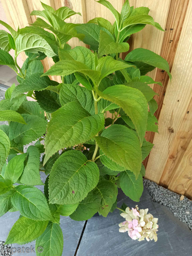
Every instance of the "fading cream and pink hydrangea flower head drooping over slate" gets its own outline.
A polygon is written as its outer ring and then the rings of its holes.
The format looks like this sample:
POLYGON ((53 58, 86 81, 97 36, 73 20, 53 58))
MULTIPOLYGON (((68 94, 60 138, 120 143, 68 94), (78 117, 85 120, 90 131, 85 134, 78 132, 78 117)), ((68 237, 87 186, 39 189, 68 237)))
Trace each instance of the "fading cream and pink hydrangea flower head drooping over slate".
POLYGON ((142 241, 146 238, 147 241, 157 241, 158 218, 153 218, 148 209, 139 210, 137 205, 135 209, 127 207, 121 216, 125 221, 119 224, 119 232, 127 231, 133 240, 142 241))

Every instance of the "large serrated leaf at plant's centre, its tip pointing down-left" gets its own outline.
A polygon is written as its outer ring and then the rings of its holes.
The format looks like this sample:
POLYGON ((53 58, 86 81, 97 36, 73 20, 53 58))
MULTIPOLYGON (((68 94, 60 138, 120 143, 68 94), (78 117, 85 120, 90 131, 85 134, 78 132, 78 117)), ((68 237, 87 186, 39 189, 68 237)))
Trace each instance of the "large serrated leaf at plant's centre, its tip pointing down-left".
POLYGON ((59 108, 48 123, 44 163, 61 148, 93 138, 103 128, 104 122, 102 113, 91 116, 78 102, 69 102, 59 108))

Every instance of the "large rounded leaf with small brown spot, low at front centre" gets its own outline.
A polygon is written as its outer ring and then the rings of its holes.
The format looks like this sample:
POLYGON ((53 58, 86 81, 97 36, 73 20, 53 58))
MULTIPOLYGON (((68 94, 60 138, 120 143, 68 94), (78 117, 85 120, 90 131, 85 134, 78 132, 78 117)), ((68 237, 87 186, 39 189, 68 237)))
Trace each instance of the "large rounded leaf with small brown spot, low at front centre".
POLYGON ((97 164, 83 153, 69 150, 53 164, 49 176, 49 202, 75 204, 83 200, 99 181, 97 164))

